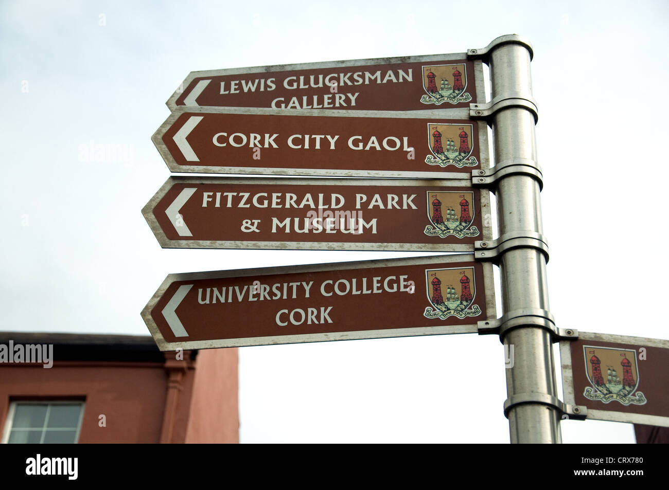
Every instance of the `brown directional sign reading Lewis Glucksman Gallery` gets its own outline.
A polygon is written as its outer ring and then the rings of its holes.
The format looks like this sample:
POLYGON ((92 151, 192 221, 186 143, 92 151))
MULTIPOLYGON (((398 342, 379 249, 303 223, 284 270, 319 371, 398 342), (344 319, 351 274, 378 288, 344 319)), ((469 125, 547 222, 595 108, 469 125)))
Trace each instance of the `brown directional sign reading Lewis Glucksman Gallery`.
POLYGON ((482 64, 466 58, 456 53, 191 72, 167 106, 468 108, 485 96, 482 64))

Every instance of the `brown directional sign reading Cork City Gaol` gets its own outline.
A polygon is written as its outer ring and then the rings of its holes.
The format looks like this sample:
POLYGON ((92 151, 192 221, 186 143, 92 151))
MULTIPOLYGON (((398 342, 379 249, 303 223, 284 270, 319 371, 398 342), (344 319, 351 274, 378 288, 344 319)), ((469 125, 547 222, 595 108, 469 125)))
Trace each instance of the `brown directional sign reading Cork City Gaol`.
POLYGON ((177 108, 153 142, 173 172, 471 178, 488 168, 488 129, 467 117, 177 108))

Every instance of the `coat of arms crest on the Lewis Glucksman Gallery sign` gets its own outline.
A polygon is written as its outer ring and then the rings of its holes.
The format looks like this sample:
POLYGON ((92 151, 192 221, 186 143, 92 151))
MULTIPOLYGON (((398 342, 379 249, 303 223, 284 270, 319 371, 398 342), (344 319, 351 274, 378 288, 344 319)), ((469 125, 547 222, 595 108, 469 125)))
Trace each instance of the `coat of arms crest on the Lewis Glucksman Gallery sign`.
POLYGON ((427 92, 421 97, 423 104, 439 106, 444 102, 460 104, 472 100, 472 96, 465 92, 467 70, 462 63, 423 66, 423 88, 427 92))

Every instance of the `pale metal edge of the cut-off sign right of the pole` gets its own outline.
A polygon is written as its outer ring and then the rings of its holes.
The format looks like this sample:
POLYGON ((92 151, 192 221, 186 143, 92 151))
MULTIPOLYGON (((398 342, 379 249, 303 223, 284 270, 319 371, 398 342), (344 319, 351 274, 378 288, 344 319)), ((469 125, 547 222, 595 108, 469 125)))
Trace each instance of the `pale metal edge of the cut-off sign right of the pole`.
MULTIPOLYGON (((595 340, 598 342, 611 342, 613 344, 632 344, 651 347, 660 347, 669 349, 669 340, 653 339, 645 337, 630 337, 613 334, 597 334, 593 332, 581 332, 579 330, 580 340, 595 340)), ((562 365, 562 389, 565 397, 565 403, 576 405, 574 395, 574 380, 571 359, 571 341, 560 341, 560 359, 562 365)), ((616 412, 613 410, 593 410, 587 409, 586 418, 594 420, 609 420, 611 422, 628 422, 630 424, 646 424, 662 427, 669 427, 669 417, 658 415, 634 414, 626 412, 616 412)))

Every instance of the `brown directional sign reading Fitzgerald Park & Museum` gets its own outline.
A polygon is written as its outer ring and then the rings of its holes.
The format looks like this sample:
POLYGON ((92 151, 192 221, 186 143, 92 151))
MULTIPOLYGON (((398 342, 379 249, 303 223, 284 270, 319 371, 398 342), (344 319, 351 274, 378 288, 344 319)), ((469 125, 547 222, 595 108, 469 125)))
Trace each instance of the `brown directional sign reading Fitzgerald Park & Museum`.
POLYGON ((142 213, 166 248, 474 251, 490 203, 464 183, 171 177, 142 213))

